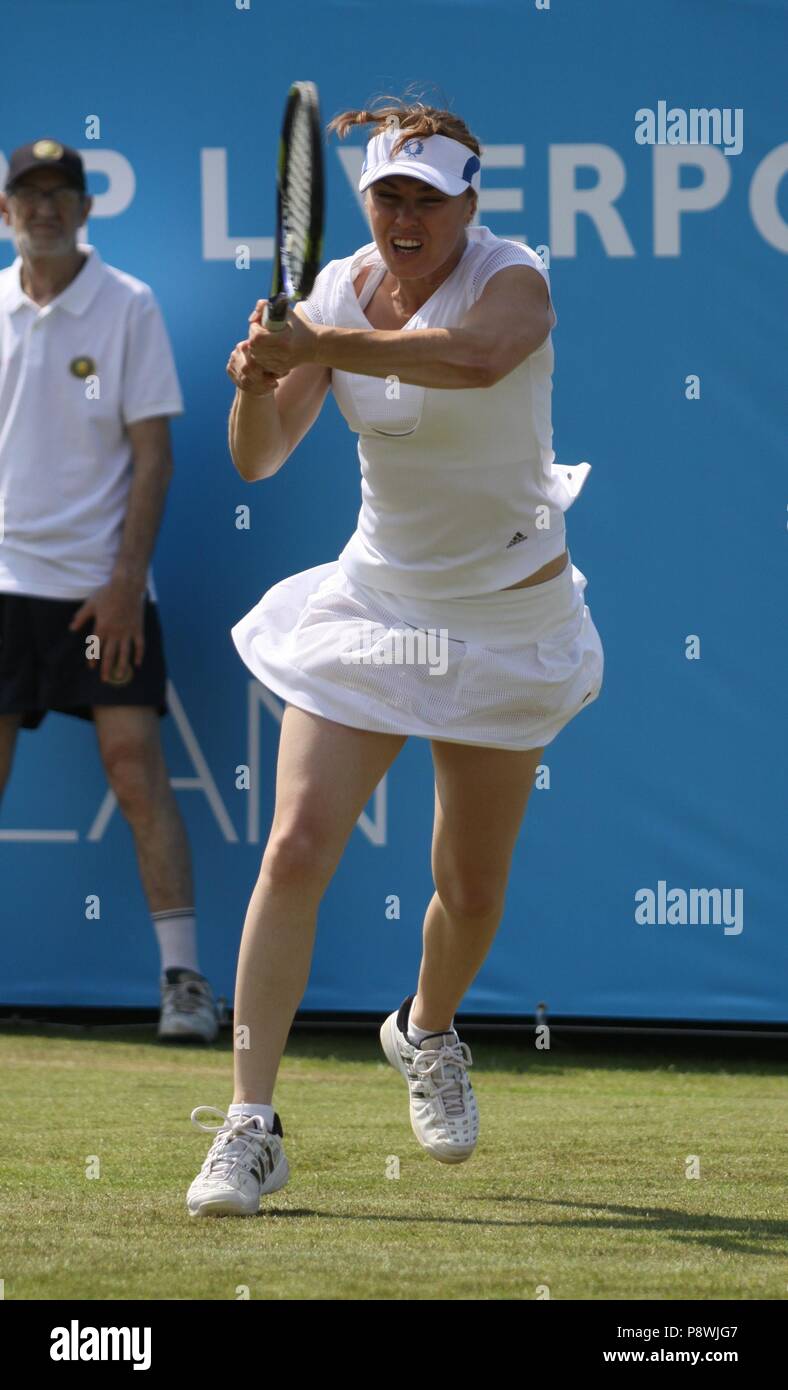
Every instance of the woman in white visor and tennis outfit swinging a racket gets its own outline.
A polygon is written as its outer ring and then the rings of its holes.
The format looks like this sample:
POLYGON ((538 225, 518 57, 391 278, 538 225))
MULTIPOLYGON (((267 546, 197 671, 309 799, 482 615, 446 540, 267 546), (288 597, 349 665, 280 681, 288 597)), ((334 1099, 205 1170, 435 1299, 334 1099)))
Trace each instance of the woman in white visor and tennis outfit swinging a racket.
POLYGON ((400 101, 328 129, 357 125, 374 126, 359 183, 374 240, 329 261, 284 331, 263 327, 258 302, 228 364, 240 475, 277 473, 331 386, 359 436, 361 510, 336 560, 275 584, 232 628, 285 712, 238 963, 235 1097, 227 1113, 192 1112, 215 1134, 188 1193, 195 1216, 250 1215, 288 1182, 272 1095, 318 905, 410 734, 431 741, 435 766, 435 892, 417 988, 381 1041, 422 1148, 471 1156, 473 1059, 454 1011, 500 923, 545 745, 602 687, 564 525, 588 464, 559 468, 550 448, 548 271, 471 227, 479 145, 457 115, 400 101))

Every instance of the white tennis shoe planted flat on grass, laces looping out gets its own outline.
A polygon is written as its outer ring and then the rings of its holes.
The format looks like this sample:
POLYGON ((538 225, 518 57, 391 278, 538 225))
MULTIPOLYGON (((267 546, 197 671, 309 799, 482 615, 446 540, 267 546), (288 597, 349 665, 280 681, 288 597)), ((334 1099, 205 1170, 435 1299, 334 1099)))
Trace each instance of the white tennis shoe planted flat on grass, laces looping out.
POLYGON ((265 1129, 260 1115, 232 1119, 215 1105, 192 1111, 196 1129, 215 1134, 207 1158, 186 1193, 192 1216, 254 1216, 260 1198, 284 1187, 290 1176, 282 1122, 274 1113, 274 1129, 265 1129), (202 1112, 218 1115, 222 1125, 203 1125, 202 1112))

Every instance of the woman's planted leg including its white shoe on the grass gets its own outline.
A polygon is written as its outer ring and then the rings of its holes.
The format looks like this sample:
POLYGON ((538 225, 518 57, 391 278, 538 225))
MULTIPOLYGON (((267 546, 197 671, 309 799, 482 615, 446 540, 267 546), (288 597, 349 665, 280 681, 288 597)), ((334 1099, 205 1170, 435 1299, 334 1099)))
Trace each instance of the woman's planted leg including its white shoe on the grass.
POLYGON ((349 728, 288 705, 271 831, 254 885, 235 987, 235 1098, 186 1194, 192 1216, 249 1216, 289 1177, 274 1083, 307 986, 317 909, 367 801, 404 737, 349 728))

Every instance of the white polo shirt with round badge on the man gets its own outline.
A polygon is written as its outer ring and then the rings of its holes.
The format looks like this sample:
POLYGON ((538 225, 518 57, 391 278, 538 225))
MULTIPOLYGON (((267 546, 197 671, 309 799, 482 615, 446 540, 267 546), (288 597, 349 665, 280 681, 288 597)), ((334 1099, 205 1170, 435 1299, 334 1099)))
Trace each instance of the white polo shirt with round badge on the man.
MULTIPOLYGON (((106 584, 132 480, 126 425, 183 411, 153 291, 95 246, 42 309, 0 271, 0 592, 83 599, 106 584)), ((156 599, 153 571, 147 592, 156 599)))

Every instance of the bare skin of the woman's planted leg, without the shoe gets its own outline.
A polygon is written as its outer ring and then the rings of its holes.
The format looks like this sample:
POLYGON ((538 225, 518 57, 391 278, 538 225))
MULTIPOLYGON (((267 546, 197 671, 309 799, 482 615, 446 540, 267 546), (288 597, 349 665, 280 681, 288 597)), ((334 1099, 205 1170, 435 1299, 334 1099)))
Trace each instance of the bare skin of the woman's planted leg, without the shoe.
POLYGON ((238 960, 235 1027, 247 1031, 236 1033, 236 1102, 271 1104, 309 980, 320 901, 359 816, 404 742, 402 735, 349 728, 293 705, 285 709, 274 819, 238 960))

